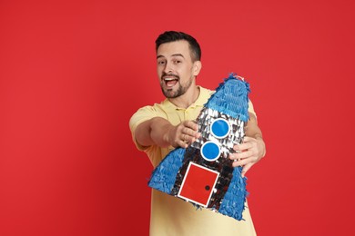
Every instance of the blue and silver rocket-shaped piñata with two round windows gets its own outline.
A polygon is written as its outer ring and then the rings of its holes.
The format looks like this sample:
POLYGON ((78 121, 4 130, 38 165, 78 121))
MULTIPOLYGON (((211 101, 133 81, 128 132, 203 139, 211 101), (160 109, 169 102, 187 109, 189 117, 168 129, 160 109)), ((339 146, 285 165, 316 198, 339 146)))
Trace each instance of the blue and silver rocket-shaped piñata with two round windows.
POLYGON ((242 220, 247 197, 242 167, 228 154, 242 143, 249 120, 249 84, 230 74, 219 84, 198 115, 201 136, 187 149, 167 154, 153 171, 148 186, 211 211, 242 220))

